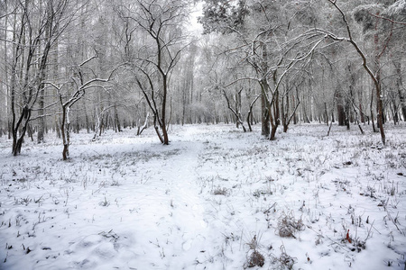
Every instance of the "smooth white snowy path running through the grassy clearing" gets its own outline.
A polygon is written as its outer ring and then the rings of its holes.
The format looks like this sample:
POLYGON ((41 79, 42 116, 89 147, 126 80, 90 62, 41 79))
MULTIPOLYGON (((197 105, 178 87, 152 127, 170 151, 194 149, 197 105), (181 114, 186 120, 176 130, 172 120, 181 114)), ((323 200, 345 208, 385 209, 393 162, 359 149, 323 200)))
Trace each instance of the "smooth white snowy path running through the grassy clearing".
POLYGON ((143 223, 139 230, 143 231, 145 240, 142 246, 149 249, 143 250, 149 254, 144 257, 145 263, 159 266, 161 258, 169 257, 169 265, 161 266, 162 269, 183 269, 196 264, 208 238, 204 202, 198 195, 196 181, 201 144, 177 142, 176 147, 181 147, 176 149, 179 151, 176 155, 155 165, 161 168, 155 169, 150 164, 149 168, 159 173, 145 184, 151 193, 145 193, 137 200, 140 209, 137 215, 143 223), (186 152, 185 149, 192 150, 186 152))

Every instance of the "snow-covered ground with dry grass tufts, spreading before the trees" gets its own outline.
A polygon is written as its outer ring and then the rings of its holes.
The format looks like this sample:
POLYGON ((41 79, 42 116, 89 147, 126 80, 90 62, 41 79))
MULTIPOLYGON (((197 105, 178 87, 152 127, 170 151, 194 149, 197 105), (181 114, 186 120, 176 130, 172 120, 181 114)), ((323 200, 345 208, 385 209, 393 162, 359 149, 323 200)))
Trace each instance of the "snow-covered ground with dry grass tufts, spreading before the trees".
POLYGON ((0 269, 405 269, 404 124, 259 130, 0 138, 0 269))

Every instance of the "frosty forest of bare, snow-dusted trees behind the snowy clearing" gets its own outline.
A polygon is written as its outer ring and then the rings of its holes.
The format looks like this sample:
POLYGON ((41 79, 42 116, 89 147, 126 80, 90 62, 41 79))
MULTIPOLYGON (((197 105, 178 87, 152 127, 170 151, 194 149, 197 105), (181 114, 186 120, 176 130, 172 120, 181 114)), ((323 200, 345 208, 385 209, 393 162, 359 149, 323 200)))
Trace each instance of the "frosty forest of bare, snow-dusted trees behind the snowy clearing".
POLYGON ((66 159, 69 132, 152 127, 168 144, 170 125, 219 122, 261 123, 271 140, 337 122, 384 144, 384 123, 406 118, 405 1, 0 6, 0 135, 14 155, 51 131, 66 159))

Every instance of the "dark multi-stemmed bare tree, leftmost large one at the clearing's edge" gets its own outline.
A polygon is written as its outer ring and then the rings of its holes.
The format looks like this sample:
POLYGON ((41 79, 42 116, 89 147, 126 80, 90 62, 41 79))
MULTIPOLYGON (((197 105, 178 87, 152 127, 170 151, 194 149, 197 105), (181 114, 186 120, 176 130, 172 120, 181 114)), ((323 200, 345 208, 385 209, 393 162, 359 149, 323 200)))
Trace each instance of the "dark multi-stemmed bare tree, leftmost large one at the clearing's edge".
POLYGON ((28 0, 14 4, 13 40, 10 40, 13 44, 13 59, 9 87, 12 152, 17 156, 32 120, 32 109, 44 89, 51 46, 71 22, 72 14, 67 14, 69 1, 46 1, 44 7, 40 2, 28 0), (41 17, 37 16, 37 11, 41 17))

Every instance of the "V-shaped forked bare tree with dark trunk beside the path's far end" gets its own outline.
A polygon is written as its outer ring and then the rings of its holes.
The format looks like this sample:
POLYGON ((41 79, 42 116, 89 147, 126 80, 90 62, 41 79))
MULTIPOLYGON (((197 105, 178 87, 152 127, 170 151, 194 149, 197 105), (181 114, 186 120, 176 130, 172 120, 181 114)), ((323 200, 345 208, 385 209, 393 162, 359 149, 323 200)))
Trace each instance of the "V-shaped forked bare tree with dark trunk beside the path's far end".
MULTIPOLYGON (((152 111, 156 133, 161 143, 167 145, 170 77, 186 47, 181 24, 187 16, 187 3, 182 0, 137 0, 133 8, 121 8, 122 17, 134 22, 138 28, 136 33, 144 38, 138 53, 130 56, 129 67, 152 111)), ((132 35, 134 31, 126 31, 126 34, 132 35)), ((130 51, 129 42, 125 51, 130 51)))

